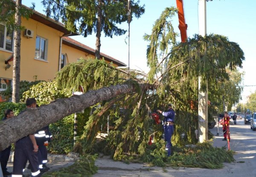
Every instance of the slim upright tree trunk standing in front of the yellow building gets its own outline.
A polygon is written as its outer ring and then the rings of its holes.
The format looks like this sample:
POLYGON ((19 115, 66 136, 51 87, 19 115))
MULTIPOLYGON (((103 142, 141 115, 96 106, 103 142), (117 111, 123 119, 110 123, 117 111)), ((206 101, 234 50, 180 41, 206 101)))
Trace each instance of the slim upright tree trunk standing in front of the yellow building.
MULTIPOLYGON (((16 0, 15 24, 20 26, 21 16, 19 8, 21 0, 16 0)), ((13 54, 13 71, 12 71, 12 102, 20 102, 20 29, 14 31, 14 54, 13 54)))

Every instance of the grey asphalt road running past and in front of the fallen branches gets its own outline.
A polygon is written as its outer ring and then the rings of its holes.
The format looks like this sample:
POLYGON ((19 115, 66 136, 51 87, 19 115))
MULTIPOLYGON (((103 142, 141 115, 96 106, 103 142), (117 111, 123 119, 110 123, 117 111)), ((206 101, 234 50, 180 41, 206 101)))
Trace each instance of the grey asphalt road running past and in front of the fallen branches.
MULTIPOLYGON (((210 131, 216 135, 217 127, 210 131)), ((222 127, 219 131, 220 136, 214 138, 214 147, 227 145, 227 141, 222 141, 222 127)), ((256 177, 256 131, 240 119, 237 125, 230 125, 230 135, 230 148, 236 151, 236 162, 224 163, 222 169, 148 167, 146 164, 125 164, 102 157, 96 161, 99 170, 93 177, 256 177)))

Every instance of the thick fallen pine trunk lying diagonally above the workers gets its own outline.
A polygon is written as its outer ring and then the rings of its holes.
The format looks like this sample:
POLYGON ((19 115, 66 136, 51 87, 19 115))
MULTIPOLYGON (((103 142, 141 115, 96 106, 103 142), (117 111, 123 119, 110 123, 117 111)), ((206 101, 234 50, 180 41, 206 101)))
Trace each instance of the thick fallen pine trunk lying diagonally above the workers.
MULTIPOLYGON (((153 89, 150 84, 140 84, 142 90, 153 89)), ((12 119, 1 122, 0 126, 0 151, 7 148, 11 143, 35 133, 50 123, 57 122, 72 113, 83 110, 98 102, 112 99, 122 94, 131 94, 136 91, 133 84, 122 84, 111 87, 103 87, 99 90, 89 90, 79 96, 67 99, 57 99, 54 102, 38 107, 27 109, 12 119)))

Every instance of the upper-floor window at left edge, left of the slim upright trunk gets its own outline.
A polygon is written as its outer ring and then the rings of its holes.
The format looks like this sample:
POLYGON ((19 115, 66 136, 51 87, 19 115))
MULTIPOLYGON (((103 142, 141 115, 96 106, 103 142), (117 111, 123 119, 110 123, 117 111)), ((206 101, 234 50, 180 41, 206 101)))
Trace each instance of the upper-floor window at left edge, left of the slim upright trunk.
POLYGON ((0 48, 13 51, 13 31, 0 24, 0 48))

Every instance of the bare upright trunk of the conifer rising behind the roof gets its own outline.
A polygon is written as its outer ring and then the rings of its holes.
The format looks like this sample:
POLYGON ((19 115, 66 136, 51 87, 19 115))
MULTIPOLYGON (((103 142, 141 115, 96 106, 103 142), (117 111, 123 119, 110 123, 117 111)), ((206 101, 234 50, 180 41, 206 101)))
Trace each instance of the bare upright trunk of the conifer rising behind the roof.
POLYGON ((97 32, 96 32, 96 49, 95 58, 100 59, 100 36, 101 36, 101 26, 102 26, 102 0, 98 1, 98 19, 97 19, 97 32))

